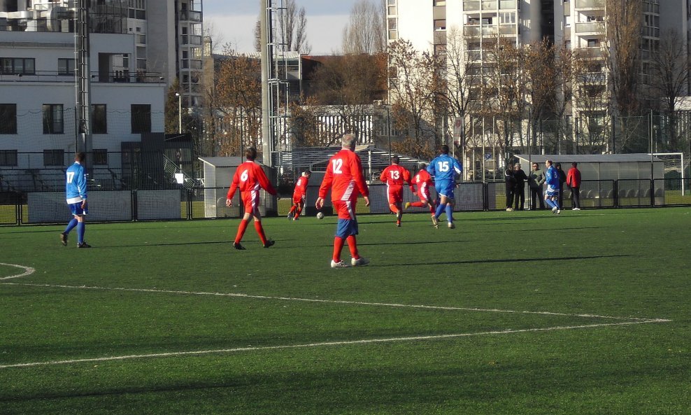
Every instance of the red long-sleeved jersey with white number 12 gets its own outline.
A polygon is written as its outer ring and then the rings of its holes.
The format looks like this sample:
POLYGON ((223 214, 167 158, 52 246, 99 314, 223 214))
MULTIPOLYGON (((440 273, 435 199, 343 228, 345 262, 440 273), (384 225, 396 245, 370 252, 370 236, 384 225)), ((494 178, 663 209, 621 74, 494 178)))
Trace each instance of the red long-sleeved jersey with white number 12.
POLYGON ((332 188, 331 199, 334 202, 355 202, 357 195, 369 196, 367 183, 362 176, 362 162, 354 151, 343 148, 329 159, 329 167, 319 187, 319 197, 324 199, 329 188, 332 188))

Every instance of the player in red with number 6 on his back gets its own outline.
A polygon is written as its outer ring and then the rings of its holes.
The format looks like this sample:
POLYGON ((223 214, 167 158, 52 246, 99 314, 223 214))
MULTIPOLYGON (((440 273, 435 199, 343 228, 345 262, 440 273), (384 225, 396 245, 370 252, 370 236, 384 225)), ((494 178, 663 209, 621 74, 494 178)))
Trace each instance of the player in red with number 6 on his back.
POLYGON ((226 206, 233 206, 235 191, 238 188, 240 189, 241 199, 245 205, 245 216, 243 216, 240 221, 240 226, 238 226, 238 233, 235 236, 233 248, 245 249, 245 247, 240 244, 240 241, 245 234, 247 225, 250 222, 250 217, 252 216, 255 218, 255 230, 257 230, 257 234, 259 234, 259 239, 262 239, 264 248, 269 248, 269 246, 273 246, 276 242, 271 239, 266 239, 266 234, 264 234, 262 214, 259 213, 259 189, 264 189, 274 196, 276 196, 276 189, 269 183, 269 178, 264 174, 262 167, 255 163, 257 149, 254 147, 248 148, 245 151, 245 157, 247 157, 247 161, 240 164, 238 169, 236 169, 235 175, 233 176, 233 183, 231 183, 228 189, 228 195, 225 201, 226 206))

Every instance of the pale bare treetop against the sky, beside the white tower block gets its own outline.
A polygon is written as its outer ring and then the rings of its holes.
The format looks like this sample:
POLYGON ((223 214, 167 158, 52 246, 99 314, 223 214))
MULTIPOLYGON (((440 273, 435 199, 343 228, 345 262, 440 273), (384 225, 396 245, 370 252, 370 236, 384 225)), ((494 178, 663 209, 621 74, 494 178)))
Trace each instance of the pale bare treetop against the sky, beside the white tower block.
POLYGON ((373 55, 386 50, 386 5, 384 0, 359 0, 350 9, 343 29, 343 53, 373 55))

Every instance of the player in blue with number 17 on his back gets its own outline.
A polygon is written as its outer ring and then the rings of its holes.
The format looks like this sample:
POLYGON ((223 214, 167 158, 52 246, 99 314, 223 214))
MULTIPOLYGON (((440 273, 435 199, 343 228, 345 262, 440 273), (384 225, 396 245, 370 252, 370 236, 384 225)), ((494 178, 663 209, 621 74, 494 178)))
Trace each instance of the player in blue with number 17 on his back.
POLYGON ((67 246, 69 232, 77 228, 77 248, 91 248, 84 241, 84 217, 87 214, 86 171, 84 169, 84 153, 74 156, 74 164, 67 168, 65 173, 65 197, 74 218, 70 220, 64 232, 60 234, 60 241, 67 246))

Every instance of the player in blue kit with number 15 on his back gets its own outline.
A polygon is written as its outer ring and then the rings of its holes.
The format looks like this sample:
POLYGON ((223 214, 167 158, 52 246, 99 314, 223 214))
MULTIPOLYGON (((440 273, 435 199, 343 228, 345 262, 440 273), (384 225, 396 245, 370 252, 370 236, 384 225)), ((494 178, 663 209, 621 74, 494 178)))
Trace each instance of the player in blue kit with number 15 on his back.
POLYGON ((455 175, 461 174, 462 171, 461 164, 449 155, 449 148, 446 145, 441 146, 441 155, 432 160, 427 166, 427 172, 434 177, 434 188, 436 188, 436 193, 440 198, 439 205, 436 206, 436 212, 432 216, 434 227, 439 227, 439 216, 444 211, 446 211, 448 227, 450 229, 456 227, 453 224, 453 189, 456 187, 455 175))

